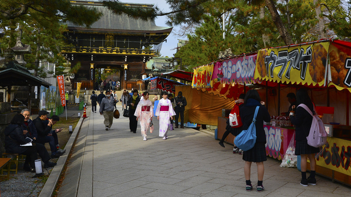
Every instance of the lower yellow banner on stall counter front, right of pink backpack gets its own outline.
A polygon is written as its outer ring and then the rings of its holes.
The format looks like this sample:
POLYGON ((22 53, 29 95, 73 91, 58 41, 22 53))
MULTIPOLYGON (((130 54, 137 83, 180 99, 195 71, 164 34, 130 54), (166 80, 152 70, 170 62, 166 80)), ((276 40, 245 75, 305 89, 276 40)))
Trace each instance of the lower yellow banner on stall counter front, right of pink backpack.
POLYGON ((318 154, 314 155, 317 165, 351 176, 351 146, 350 141, 328 137, 318 154))

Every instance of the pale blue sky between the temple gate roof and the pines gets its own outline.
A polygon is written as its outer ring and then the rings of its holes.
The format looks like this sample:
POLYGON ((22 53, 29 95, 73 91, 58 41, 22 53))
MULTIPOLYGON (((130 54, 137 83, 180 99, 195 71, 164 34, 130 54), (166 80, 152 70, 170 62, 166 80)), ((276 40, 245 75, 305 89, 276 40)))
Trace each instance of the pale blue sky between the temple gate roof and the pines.
MULTIPOLYGON (((170 11, 168 4, 166 3, 165 0, 120 0, 121 2, 126 2, 126 3, 139 3, 139 4, 155 4, 157 5, 161 11, 163 12, 168 12, 170 11)), ((155 19, 155 23, 157 26, 161 27, 168 27, 166 23, 166 16, 159 16, 157 19, 155 19)), ((173 27, 172 31, 175 31, 178 27, 173 27)), ((163 56, 168 56, 168 57, 173 57, 173 54, 176 53, 176 48, 178 40, 177 39, 184 39, 184 38, 177 38, 176 35, 170 34, 168 35, 167 43, 163 42, 162 49, 161 49, 161 55, 163 56), (174 50, 172 50, 174 49, 174 50)))

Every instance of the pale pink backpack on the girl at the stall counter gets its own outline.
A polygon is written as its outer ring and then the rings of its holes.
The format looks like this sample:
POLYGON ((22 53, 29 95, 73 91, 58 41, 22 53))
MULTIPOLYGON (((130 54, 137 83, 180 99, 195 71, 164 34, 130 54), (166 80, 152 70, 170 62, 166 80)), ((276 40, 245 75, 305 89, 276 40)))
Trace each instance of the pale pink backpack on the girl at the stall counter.
POLYGON ((327 135, 328 134, 325 131, 324 123, 317 116, 316 108, 314 107, 314 104, 313 104, 313 110, 315 112, 315 115, 313 115, 313 113, 310 110, 310 108, 308 108, 305 104, 300 104, 297 107, 303 107, 313 117, 310 133, 306 137, 307 138, 307 144, 309 144, 311 147, 316 147, 316 148, 321 147, 324 144, 326 144, 327 143, 327 135))

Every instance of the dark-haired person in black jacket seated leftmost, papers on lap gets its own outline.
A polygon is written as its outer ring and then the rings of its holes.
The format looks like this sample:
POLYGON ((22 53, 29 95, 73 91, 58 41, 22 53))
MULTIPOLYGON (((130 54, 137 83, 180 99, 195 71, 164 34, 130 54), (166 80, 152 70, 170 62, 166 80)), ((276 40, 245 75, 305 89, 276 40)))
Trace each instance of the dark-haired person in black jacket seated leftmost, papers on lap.
POLYGON ((32 146, 21 146, 32 142, 30 138, 25 138, 28 131, 22 129, 23 124, 24 116, 17 114, 5 128, 5 152, 8 154, 26 155, 25 165, 23 167, 26 171, 35 172, 34 161, 37 159, 37 153, 44 162, 44 168, 54 167, 56 163, 49 162, 51 158, 44 145, 32 143, 32 146))

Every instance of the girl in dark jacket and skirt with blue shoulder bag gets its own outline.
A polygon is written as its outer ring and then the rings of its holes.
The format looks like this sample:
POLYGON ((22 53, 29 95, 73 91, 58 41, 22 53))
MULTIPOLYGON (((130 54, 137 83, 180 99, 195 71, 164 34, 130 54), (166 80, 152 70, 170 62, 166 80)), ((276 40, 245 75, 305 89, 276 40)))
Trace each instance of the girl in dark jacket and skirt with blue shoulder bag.
POLYGON ((244 174, 246 179, 246 191, 251 191, 252 184, 250 181, 251 174, 251 164, 256 162, 257 165, 257 191, 261 192, 264 190, 262 185, 263 175, 264 175, 264 165, 263 162, 267 161, 266 156, 266 133, 263 129, 263 121, 270 122, 271 116, 268 110, 264 106, 265 103, 261 102, 260 95, 257 90, 251 89, 247 91, 244 100, 244 106, 240 108, 240 118, 243 122, 243 130, 247 130, 253 120, 256 107, 259 106, 257 116, 256 116, 256 143, 254 147, 250 150, 244 151, 243 159, 245 161, 244 174))

